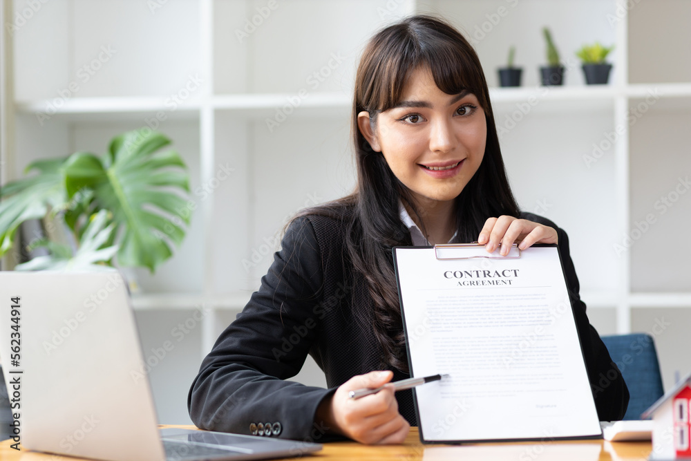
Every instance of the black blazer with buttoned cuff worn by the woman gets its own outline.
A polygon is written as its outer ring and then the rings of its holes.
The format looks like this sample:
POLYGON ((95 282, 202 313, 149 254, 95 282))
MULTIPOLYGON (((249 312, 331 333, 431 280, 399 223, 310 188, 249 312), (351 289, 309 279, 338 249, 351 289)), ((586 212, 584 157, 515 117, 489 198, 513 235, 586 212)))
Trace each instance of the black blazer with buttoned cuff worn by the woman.
MULTIPOLYGON (((321 400, 354 375, 390 369, 379 359, 371 324, 359 320, 367 315, 354 315, 356 310, 371 312, 372 299, 343 247, 345 221, 351 216, 344 209, 342 219, 306 216, 288 227, 261 287, 220 335, 194 379, 187 407, 200 429, 323 442, 328 427, 314 421, 321 400), (307 354, 324 371, 329 389, 287 381, 299 373, 307 354)), ((567 234, 541 216, 522 217, 557 229, 598 415, 619 420, 629 393, 589 325, 567 234)), ((394 380, 408 377, 393 371, 394 380)), ((412 391, 396 398, 401 415, 417 425, 412 391)))

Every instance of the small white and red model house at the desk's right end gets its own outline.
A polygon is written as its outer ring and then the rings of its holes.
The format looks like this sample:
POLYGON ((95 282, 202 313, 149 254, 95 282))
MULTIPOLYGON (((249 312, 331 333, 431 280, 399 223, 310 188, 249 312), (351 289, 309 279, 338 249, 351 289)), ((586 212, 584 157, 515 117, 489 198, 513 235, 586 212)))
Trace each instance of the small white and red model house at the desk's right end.
POLYGON ((651 416, 654 423, 650 459, 691 459, 691 374, 681 379, 642 417, 651 416))

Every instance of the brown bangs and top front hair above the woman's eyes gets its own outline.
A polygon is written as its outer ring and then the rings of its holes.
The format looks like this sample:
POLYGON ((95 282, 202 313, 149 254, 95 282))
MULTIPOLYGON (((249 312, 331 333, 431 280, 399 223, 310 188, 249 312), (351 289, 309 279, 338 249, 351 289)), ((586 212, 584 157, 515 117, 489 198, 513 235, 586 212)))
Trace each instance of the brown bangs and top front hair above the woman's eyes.
POLYGON ((370 42, 361 64, 371 64, 364 66, 370 69, 368 75, 359 75, 364 84, 360 88, 368 88, 359 100, 363 110, 386 111, 398 104, 410 75, 418 68, 428 68, 444 93, 467 90, 488 109, 480 60, 466 39, 444 23, 437 21, 433 27, 401 23, 385 29, 370 42))

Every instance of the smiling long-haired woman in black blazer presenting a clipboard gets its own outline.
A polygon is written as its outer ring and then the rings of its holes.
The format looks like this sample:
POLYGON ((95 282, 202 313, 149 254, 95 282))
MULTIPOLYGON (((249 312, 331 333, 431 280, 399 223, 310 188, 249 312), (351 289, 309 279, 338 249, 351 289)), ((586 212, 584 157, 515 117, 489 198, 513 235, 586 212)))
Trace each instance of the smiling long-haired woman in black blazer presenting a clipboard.
POLYGON ((628 391, 589 326, 567 235, 518 209, 482 67, 464 37, 424 16, 372 37, 357 70, 352 132, 356 191, 287 227, 261 288, 202 363, 188 399, 193 422, 302 440, 402 442, 416 424, 411 391, 347 397, 408 377, 391 249, 475 240, 488 252, 558 244, 598 415, 621 419, 628 391), (285 381, 308 353, 330 389, 285 381), (596 388, 612 369, 616 379, 596 388))

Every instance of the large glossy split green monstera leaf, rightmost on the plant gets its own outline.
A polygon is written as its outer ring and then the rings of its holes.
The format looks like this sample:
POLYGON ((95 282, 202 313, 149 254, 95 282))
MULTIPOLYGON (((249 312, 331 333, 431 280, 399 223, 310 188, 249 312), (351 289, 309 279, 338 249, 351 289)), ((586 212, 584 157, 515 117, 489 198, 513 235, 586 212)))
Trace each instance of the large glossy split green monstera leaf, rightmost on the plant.
POLYGON ((74 153, 64 164, 68 199, 83 191, 96 209, 113 214, 117 262, 155 268, 180 245, 189 225, 189 179, 178 153, 158 151, 170 143, 151 130, 117 136, 108 153, 74 153))

